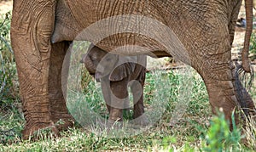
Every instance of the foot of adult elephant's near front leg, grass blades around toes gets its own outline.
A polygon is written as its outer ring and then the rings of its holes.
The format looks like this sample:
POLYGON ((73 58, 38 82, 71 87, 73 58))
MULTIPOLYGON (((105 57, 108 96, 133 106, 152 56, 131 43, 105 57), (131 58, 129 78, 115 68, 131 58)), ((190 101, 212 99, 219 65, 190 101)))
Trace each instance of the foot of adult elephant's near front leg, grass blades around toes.
MULTIPOLYGON (((24 140, 31 139, 36 141, 40 138, 44 138, 42 133, 44 132, 51 132, 53 136, 59 137, 60 133, 59 130, 54 126, 52 123, 35 123, 30 126, 26 126, 25 129, 22 131, 22 138, 24 140)), ((47 136, 49 133, 47 133, 47 136)))

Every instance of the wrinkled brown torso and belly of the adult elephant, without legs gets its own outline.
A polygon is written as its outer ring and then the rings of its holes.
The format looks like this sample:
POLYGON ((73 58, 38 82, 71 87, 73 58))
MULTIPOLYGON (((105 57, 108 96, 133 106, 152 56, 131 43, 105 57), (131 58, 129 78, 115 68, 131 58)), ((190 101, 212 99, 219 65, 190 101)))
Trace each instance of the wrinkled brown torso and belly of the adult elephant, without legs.
POLYGON ((151 51, 158 57, 172 54, 187 59, 190 52, 204 53, 213 45, 217 48, 218 42, 230 41, 228 20, 215 14, 218 6, 211 9, 207 11, 206 1, 59 1, 52 42, 88 40, 106 51, 136 45, 144 50, 129 48, 118 53, 151 51))

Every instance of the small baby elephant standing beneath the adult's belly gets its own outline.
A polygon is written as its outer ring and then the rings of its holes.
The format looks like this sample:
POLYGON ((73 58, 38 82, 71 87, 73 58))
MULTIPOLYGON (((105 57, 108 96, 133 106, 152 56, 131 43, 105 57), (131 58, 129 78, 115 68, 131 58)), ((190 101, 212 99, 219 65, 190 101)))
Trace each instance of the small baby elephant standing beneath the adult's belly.
MULTIPOLYGON (((101 82, 103 98, 107 104, 108 124, 123 120, 123 110, 130 109, 128 87, 133 95, 133 117, 144 113, 143 86, 146 74, 146 56, 122 56, 108 53, 91 45, 81 60, 91 76, 101 82)), ((134 120, 136 124, 147 125, 145 116, 134 120)))

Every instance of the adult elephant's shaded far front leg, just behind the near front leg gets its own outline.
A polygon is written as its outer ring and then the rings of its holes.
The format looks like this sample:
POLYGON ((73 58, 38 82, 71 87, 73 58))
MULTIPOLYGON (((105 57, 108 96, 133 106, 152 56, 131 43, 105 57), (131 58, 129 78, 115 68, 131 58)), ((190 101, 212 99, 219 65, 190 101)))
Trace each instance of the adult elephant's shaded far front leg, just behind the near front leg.
MULTIPOLYGON (((66 88, 67 73, 61 75, 63 60, 71 42, 58 42, 52 44, 49 64, 49 103, 51 118, 58 130, 65 130, 67 127, 73 127, 73 116, 68 113, 67 104, 64 99, 66 88), (62 80, 62 81, 61 81, 62 80), (61 82, 64 82, 61 84, 61 82), (62 86, 64 85, 64 86, 62 86)), ((66 58, 69 60, 69 56, 66 58)), ((64 71, 68 71, 69 65, 63 66, 64 71)))

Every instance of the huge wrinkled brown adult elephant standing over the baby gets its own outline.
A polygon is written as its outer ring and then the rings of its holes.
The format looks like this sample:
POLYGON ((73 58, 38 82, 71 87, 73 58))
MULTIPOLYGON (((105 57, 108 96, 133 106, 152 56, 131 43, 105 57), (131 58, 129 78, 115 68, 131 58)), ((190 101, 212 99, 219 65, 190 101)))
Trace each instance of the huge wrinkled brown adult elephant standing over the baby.
MULTIPOLYGON (((247 71, 252 4, 246 0, 247 36, 242 60, 247 71)), ((121 54, 148 50, 157 56, 171 53, 200 73, 213 113, 223 108, 230 120, 236 107, 255 110, 249 96, 238 97, 243 88, 236 87, 231 62, 240 7, 241 0, 15 0, 11 40, 26 118, 24 138, 60 119, 65 123, 53 127, 55 132, 72 125, 61 91, 61 65, 74 39, 89 40, 106 51, 136 46, 116 52, 121 54), (77 37, 84 29, 85 36, 77 37), (137 49, 140 47, 144 49, 137 49)))

